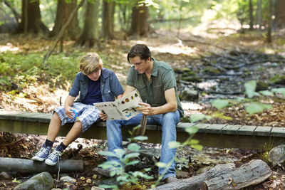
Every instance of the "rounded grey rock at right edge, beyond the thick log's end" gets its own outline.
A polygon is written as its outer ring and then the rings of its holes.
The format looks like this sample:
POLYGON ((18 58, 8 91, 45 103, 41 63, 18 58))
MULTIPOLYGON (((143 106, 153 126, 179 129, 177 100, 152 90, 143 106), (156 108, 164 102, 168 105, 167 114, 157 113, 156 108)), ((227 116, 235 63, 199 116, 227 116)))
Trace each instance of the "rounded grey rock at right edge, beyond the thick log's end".
POLYGON ((285 167, 285 144, 274 147, 269 152, 268 161, 271 162, 273 167, 279 166, 282 169, 285 167))

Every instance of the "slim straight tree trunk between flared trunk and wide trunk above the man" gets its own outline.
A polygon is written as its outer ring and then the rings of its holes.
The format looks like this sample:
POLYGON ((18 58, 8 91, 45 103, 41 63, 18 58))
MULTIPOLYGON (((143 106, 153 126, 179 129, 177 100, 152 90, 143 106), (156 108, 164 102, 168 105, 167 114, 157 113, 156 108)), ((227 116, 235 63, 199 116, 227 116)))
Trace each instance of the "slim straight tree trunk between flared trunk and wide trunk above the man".
POLYGON ((102 37, 104 40, 114 38, 114 14, 115 1, 103 0, 102 37))

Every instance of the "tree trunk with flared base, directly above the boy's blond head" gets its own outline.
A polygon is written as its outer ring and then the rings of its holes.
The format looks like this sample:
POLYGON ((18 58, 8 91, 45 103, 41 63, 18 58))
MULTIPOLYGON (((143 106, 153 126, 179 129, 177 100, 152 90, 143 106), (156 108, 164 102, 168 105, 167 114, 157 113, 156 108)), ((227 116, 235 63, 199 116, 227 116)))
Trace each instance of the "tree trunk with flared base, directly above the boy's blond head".
POLYGON ((100 0, 88 1, 84 29, 81 37, 76 41, 76 46, 91 48, 98 39, 98 13, 100 0))

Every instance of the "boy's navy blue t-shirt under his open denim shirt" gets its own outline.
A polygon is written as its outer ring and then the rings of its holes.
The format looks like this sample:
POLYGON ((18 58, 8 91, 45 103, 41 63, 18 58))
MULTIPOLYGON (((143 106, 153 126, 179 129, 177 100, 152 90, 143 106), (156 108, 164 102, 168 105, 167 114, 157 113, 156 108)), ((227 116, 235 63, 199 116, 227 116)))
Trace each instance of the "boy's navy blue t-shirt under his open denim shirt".
POLYGON ((96 81, 88 78, 88 90, 86 97, 82 100, 82 103, 86 105, 93 105, 93 103, 97 102, 103 102, 100 90, 100 78, 98 78, 96 81))

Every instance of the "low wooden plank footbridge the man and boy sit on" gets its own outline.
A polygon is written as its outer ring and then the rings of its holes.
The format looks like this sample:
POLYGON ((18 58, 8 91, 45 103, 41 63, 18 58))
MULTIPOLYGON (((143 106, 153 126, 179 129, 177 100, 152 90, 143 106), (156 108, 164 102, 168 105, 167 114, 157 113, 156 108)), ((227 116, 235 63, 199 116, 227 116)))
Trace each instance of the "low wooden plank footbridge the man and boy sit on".
MULTIPOLYGON (((51 113, 22 112, 0 110, 0 132, 44 134, 48 132, 51 113)), ((71 125, 61 127, 59 136, 66 136, 71 125)), ((177 141, 184 142, 189 134, 185 127, 198 127, 199 131, 193 139, 198 139, 204 147, 264 149, 285 144, 285 127, 264 127, 248 125, 219 125, 205 123, 179 123, 177 125, 177 141)), ((123 139, 130 135, 130 126, 122 127, 123 139)), ((161 126, 147 125, 145 135, 148 142, 161 142, 161 126)), ((81 135, 90 139, 106 139, 105 122, 95 123, 81 135)))

